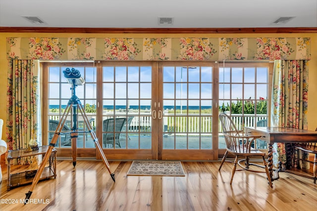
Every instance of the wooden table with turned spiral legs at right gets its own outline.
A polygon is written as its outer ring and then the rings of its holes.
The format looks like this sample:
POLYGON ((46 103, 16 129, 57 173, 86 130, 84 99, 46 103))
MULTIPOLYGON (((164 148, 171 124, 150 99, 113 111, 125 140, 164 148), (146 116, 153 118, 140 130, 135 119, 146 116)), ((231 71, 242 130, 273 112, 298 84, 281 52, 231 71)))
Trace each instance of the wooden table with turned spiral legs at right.
MULTIPOLYGON (((245 127, 246 135, 261 135, 261 140, 268 144, 268 170, 271 180, 279 178, 278 172, 288 172, 306 178, 314 179, 313 176, 294 169, 282 168, 281 162, 278 169, 273 169, 273 144, 274 143, 305 143, 317 142, 317 131, 306 129, 295 129, 289 127, 245 127), (273 175, 274 173, 274 175, 273 175)), ((286 157, 292 157, 293 150, 291 145, 286 145, 286 157)), ((288 160, 287 162, 291 162, 288 160)), ((290 164, 286 165, 290 166, 290 164)))

